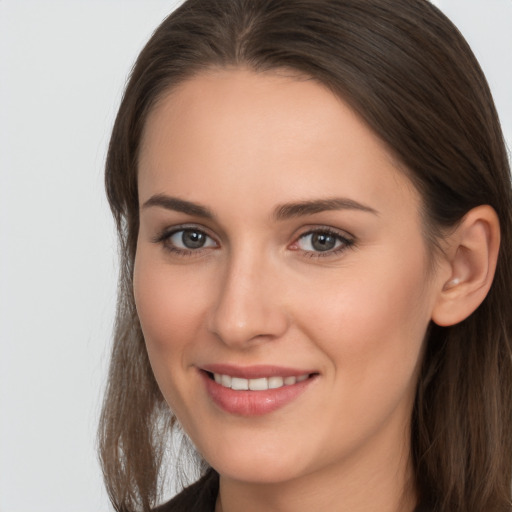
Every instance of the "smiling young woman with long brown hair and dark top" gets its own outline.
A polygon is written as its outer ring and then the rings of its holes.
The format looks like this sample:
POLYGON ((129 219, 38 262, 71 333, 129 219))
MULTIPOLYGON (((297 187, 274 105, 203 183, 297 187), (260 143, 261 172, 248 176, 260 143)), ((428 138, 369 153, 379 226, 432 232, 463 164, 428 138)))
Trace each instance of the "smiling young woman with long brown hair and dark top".
POLYGON ((177 422, 205 476, 159 510, 510 510, 509 167, 435 7, 185 2, 106 186, 116 510, 156 505, 177 422))

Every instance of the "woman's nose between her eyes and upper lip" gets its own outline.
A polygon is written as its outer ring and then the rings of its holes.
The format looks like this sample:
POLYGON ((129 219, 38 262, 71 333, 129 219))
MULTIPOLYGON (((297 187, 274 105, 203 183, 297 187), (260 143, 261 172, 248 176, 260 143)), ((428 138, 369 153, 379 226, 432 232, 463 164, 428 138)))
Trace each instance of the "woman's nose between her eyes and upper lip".
POLYGON ((244 350, 286 332, 288 315, 278 269, 246 252, 226 264, 218 283, 208 324, 224 344, 244 350))

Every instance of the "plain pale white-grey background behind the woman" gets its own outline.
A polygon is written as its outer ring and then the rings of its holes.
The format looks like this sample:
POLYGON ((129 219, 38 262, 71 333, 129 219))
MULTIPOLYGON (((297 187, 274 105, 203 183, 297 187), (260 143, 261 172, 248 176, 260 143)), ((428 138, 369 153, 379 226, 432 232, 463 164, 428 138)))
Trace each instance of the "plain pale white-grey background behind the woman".
MULTIPOLYGON (((103 163, 179 0, 0 0, 0 512, 110 510, 95 454, 116 287, 103 163)), ((438 0, 512 146, 512 0, 438 0)))

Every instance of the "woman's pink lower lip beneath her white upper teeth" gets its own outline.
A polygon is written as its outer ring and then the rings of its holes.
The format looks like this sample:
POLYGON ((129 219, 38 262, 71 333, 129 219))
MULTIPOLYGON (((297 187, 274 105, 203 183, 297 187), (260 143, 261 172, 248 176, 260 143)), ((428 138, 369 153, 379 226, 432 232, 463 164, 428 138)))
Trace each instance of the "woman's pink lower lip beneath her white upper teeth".
POLYGON ((262 416, 293 402, 316 378, 266 391, 234 391, 217 384, 201 371, 206 391, 212 401, 225 412, 238 416, 262 416))

